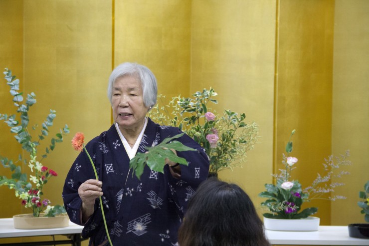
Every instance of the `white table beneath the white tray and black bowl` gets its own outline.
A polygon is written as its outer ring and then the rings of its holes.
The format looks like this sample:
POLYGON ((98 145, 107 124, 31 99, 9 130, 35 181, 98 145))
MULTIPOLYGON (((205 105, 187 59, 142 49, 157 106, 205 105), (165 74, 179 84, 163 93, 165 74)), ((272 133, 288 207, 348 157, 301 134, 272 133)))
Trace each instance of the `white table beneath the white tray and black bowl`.
POLYGON ((369 246, 369 239, 349 237, 347 226, 320 226, 315 232, 284 232, 265 230, 272 245, 355 245, 369 246))

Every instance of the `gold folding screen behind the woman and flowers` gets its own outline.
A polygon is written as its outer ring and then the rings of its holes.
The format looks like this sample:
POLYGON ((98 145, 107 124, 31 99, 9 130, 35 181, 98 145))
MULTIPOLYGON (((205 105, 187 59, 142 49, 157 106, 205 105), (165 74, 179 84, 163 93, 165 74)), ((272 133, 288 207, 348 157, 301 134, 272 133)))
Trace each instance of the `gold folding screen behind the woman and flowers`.
MULTIPOLYGON (((351 149, 350 189, 341 189, 348 199, 311 206, 319 207, 322 225, 360 222, 353 190, 362 188, 369 171, 368 7, 365 0, 0 1, 0 67, 12 69, 22 88, 37 95, 34 123, 52 108, 57 117, 50 134, 64 123, 71 130, 44 160, 59 174, 45 196, 61 203, 64 177, 77 155, 69 145, 72 135, 84 131, 91 139, 110 126, 109 74, 121 62, 136 61, 156 74, 159 93, 188 96, 212 86, 218 111, 245 112, 259 124, 260 143, 244 168, 220 173, 241 185, 258 208, 257 194, 280 168, 292 129, 299 158, 293 175, 304 186, 324 157, 351 149), (341 211, 346 216, 338 218, 341 211)), ((10 113, 8 87, 1 82, 0 89, 0 112, 10 113)), ((0 154, 16 158, 20 148, 8 127, 1 123, 0 131, 0 154)), ((0 189, 2 218, 26 212, 12 192, 0 189)))

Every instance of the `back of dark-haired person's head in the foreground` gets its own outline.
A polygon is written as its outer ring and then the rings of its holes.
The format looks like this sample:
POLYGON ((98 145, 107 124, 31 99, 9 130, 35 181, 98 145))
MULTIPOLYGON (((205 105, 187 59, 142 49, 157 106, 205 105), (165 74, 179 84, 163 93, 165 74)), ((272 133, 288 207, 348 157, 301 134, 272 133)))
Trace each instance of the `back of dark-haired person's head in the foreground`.
POLYGON ((180 246, 270 246, 249 196, 237 185, 210 178, 188 203, 180 246))

